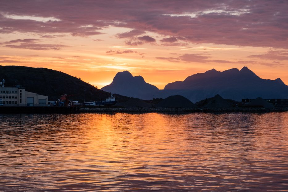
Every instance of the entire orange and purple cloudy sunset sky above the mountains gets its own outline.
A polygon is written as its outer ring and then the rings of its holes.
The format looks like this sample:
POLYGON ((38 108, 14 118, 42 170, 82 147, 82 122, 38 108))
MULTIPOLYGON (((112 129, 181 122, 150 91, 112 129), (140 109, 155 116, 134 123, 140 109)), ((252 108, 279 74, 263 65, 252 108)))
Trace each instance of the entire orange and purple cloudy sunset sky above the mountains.
POLYGON ((1 0, 0 64, 98 88, 124 70, 163 89, 244 66, 288 85, 287 10, 287 0, 1 0))

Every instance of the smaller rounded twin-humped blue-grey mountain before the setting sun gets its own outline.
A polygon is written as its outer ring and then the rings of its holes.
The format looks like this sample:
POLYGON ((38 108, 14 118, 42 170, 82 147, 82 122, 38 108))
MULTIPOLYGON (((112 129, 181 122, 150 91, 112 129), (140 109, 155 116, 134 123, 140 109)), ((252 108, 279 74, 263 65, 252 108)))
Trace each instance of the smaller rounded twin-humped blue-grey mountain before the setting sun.
POLYGON ((129 71, 117 73, 112 83, 101 90, 140 99, 151 99, 159 91, 156 86, 146 83, 143 77, 133 77, 129 71))

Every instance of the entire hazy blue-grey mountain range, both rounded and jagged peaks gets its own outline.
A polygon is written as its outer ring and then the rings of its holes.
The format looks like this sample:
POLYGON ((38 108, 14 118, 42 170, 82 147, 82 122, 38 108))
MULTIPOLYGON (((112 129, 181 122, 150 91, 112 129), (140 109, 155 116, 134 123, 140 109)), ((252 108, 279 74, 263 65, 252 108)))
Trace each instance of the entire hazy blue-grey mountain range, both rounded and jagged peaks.
POLYGON ((163 90, 148 84, 141 76, 133 77, 128 71, 119 72, 112 83, 102 90, 128 97, 152 99, 166 98, 170 95, 181 95, 192 102, 211 98, 216 94, 223 98, 241 101, 242 98, 286 98, 288 86, 278 78, 261 79, 247 67, 217 71, 211 69, 197 73, 184 81, 168 83, 163 90))

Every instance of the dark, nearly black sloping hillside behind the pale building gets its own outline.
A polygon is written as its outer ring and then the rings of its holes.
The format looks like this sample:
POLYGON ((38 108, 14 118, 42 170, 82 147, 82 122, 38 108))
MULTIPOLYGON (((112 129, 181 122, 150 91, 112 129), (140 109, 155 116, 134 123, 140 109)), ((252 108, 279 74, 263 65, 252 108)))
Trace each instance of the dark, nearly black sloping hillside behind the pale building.
MULTIPOLYGON (((50 101, 54 101, 54 93, 56 99, 63 94, 74 94, 70 98, 81 102, 84 101, 84 95, 86 101, 98 101, 111 96, 80 78, 46 68, 0 66, 0 79, 5 79, 6 87, 22 85, 27 91, 48 96, 50 101)), ((127 99, 120 95, 116 98, 127 99)))

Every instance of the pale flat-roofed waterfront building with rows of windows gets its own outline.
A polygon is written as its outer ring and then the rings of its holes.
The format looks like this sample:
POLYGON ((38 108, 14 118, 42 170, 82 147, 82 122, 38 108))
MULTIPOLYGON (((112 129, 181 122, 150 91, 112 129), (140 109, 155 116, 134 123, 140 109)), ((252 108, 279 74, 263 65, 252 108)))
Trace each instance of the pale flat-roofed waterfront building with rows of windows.
POLYGON ((48 96, 28 92, 21 87, 0 87, 0 104, 4 106, 47 106, 48 96))

